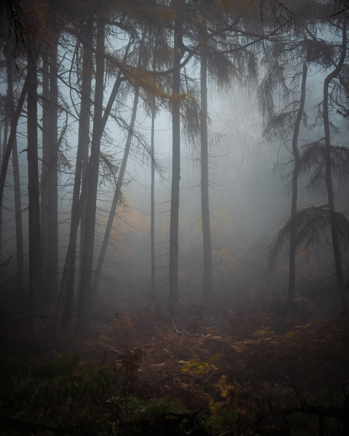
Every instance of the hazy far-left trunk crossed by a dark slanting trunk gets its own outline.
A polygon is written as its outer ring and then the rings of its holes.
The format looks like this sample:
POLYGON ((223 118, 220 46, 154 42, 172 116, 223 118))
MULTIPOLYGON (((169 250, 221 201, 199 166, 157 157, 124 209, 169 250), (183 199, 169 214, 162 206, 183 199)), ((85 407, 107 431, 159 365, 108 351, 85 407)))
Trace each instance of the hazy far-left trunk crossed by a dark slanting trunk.
MULTIPOLYGON (((10 115, 10 129, 12 129, 14 119, 14 89, 13 89, 13 44, 10 43, 10 50, 7 52, 6 58, 6 70, 7 70, 7 102, 9 106, 10 115)), ((24 279, 24 266, 23 266, 23 230, 22 230, 22 215, 21 215, 21 183, 19 178, 19 166, 18 166, 18 153, 17 153, 17 139, 14 136, 14 142, 12 146, 12 166, 14 174, 14 213, 15 213, 15 225, 16 225, 16 255, 17 255, 17 273, 16 273, 16 286, 17 295, 23 293, 23 279, 24 279)))

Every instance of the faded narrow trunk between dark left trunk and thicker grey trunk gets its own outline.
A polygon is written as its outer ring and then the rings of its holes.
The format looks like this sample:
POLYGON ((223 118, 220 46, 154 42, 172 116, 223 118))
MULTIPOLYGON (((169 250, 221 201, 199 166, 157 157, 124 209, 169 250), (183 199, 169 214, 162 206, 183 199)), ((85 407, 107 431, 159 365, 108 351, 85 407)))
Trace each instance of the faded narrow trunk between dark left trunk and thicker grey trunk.
POLYGON ((41 156, 41 187, 40 187, 40 232, 41 232, 41 280, 42 287, 46 292, 47 287, 47 203, 48 203, 48 171, 49 171, 49 143, 50 143, 50 120, 49 120, 49 69, 48 45, 44 45, 41 51, 42 58, 42 156, 41 156))

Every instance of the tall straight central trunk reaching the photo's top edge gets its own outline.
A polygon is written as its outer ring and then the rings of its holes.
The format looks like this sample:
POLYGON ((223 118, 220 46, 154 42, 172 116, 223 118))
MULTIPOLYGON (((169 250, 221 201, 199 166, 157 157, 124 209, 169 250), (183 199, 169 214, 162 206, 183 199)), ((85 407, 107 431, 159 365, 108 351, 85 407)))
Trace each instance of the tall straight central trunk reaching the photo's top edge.
POLYGON ((181 85, 181 38, 183 31, 182 1, 173 0, 176 6, 173 44, 173 82, 172 82, 172 181, 171 181, 171 215, 170 215, 170 265, 169 265, 169 305, 175 312, 178 307, 178 213, 179 180, 181 157, 180 124, 180 85, 181 85))

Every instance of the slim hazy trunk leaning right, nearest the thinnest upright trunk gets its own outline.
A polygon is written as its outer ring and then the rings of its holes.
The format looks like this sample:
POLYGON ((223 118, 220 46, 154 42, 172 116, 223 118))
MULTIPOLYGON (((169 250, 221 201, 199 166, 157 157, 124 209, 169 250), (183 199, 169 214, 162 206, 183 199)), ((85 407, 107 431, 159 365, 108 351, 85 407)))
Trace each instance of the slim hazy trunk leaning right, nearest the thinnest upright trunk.
MULTIPOLYGON (((145 32, 144 32, 144 35, 143 35, 142 40, 140 42, 140 54, 138 55, 137 69, 139 69, 140 66, 142 65, 144 38, 145 38, 145 32)), ((114 216, 115 216, 115 211, 116 211, 116 207, 119 203, 121 186, 123 184, 123 176, 125 175, 127 159, 128 159, 128 155, 130 153, 130 146, 131 146, 131 141, 132 141, 132 136, 133 136, 134 123, 136 121, 138 98, 139 98, 139 87, 137 86, 136 91, 134 93, 134 100, 133 100, 132 113, 131 113, 131 121, 130 121, 129 131, 127 134, 125 150, 123 152, 123 160, 121 163, 119 175, 118 175, 117 182, 116 182, 115 193, 114 193, 113 202, 112 202, 110 212, 109 212, 108 222, 106 225, 106 231, 104 232, 104 237, 103 237, 101 251, 99 253, 95 277, 93 279, 92 291, 91 291, 92 294, 97 293, 98 283, 99 283, 99 279, 100 279, 100 276, 102 273, 102 268, 103 268, 103 262, 104 262, 104 258, 106 256, 106 249, 108 247, 109 236, 110 236, 111 229, 113 227, 113 220, 114 220, 114 216)), ((103 118, 104 118, 104 116, 103 116, 103 118)))

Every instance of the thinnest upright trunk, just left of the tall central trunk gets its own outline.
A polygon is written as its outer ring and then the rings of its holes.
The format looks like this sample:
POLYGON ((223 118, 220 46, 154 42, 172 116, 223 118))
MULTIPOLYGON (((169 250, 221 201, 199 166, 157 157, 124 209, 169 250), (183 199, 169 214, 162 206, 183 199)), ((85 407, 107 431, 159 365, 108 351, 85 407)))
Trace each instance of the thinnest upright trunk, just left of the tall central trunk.
MULTIPOLYGON (((155 70, 155 68, 153 68, 155 70)), ((151 246, 151 296, 155 295, 155 204, 154 204, 154 124, 155 124, 156 97, 151 102, 151 188, 150 188, 150 246, 151 246)))

